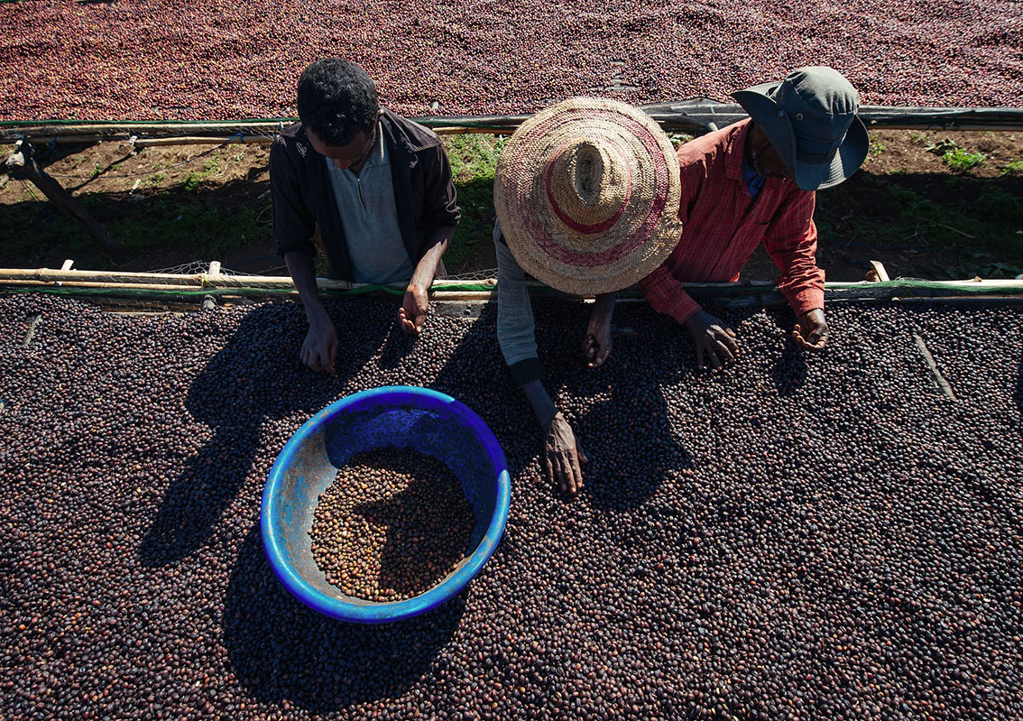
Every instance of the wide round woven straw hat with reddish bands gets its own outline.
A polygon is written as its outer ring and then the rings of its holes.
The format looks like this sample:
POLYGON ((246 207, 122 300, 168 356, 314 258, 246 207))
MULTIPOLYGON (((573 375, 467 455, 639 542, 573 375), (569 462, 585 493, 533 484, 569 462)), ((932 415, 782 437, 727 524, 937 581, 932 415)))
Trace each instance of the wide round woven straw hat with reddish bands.
POLYGON ((494 206, 523 270, 574 295, 612 292, 674 250, 678 160, 660 126, 617 100, 572 98, 515 132, 494 206))

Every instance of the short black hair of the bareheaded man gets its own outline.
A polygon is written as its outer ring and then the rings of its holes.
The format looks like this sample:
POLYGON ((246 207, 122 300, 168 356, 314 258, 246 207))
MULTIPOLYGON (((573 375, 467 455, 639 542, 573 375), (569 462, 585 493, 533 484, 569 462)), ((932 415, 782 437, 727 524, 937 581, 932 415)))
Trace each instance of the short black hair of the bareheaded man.
POLYGON ((380 102, 376 86, 350 60, 316 60, 299 78, 299 119, 325 145, 347 145, 362 131, 371 133, 380 102))

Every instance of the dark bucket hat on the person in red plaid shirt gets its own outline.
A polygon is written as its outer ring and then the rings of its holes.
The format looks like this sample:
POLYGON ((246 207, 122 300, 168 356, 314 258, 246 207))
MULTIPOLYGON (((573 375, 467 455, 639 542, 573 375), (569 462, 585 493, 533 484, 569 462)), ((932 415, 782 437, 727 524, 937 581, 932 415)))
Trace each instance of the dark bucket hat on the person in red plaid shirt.
POLYGON ((832 67, 800 67, 781 83, 731 96, 764 131, 803 190, 838 185, 866 159, 871 141, 856 117, 859 93, 832 67))

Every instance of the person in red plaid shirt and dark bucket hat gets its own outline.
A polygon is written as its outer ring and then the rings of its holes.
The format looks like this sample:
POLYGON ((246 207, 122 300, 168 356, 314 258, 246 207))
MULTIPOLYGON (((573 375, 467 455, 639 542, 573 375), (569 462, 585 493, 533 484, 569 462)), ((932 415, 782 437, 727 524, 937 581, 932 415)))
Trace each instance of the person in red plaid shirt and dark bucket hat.
POLYGON ((686 282, 735 281, 757 244, 781 270, 802 348, 828 343, 825 273, 814 259, 814 193, 851 176, 870 146, 859 95, 838 71, 801 67, 781 83, 732 95, 750 115, 678 148, 684 228, 674 252, 640 283, 650 305, 684 325, 697 365, 720 368, 739 351, 735 331, 704 311, 686 282))

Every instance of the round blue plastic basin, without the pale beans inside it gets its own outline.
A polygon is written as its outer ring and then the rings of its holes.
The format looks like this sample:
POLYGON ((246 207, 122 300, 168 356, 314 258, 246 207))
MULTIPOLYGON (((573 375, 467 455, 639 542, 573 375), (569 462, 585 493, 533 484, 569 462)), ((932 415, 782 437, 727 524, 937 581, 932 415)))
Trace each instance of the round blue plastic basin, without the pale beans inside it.
POLYGON ((277 456, 260 512, 263 547, 277 578, 299 600, 343 621, 400 621, 437 607, 483 569, 504 532, 507 464, 486 423, 450 396, 410 386, 362 391, 306 422, 277 456), (313 560, 309 529, 319 495, 356 453, 413 449, 437 458, 461 482, 476 523, 465 558, 444 580, 408 600, 377 603, 346 596, 313 560))

